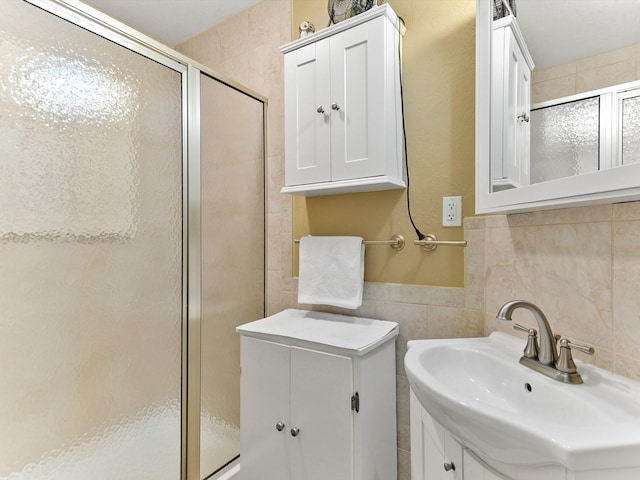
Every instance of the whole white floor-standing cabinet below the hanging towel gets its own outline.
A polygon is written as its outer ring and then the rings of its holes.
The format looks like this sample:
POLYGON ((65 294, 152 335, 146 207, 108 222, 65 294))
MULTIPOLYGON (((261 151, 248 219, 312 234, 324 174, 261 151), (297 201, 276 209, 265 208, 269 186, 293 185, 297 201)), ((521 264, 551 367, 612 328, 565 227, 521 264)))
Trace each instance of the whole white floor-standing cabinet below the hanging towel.
POLYGON ((237 331, 241 480, 396 478, 396 323, 285 310, 237 331))

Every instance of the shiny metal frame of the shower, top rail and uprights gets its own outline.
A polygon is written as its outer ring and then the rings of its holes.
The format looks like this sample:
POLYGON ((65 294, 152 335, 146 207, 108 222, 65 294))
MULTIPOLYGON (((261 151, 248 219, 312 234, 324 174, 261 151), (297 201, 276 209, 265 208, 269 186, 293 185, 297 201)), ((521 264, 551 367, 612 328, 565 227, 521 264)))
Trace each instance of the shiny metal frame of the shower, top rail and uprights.
MULTIPOLYGON (((154 60, 182 75, 182 415, 181 480, 201 480, 201 205, 200 205, 200 74, 263 104, 264 186, 267 189, 268 100, 257 92, 213 71, 171 47, 119 22, 79 0, 23 0, 89 32, 154 60)), ((265 198, 266 203, 266 198, 265 198)), ((266 205, 265 205, 266 207, 266 205)), ((266 208, 265 208, 266 213, 266 208)), ((265 214, 266 222, 266 214, 265 214)), ((265 231, 265 253, 267 236, 265 231)), ((265 254, 265 311, 267 264, 265 254)))

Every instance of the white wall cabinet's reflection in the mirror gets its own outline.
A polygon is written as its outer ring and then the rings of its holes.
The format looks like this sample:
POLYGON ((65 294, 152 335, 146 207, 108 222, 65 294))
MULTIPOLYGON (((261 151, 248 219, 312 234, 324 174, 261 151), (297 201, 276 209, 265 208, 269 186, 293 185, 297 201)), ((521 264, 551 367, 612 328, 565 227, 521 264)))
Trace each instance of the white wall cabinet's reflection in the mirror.
POLYGON ((493 191, 530 183, 533 60, 512 15, 493 22, 491 181, 493 191))

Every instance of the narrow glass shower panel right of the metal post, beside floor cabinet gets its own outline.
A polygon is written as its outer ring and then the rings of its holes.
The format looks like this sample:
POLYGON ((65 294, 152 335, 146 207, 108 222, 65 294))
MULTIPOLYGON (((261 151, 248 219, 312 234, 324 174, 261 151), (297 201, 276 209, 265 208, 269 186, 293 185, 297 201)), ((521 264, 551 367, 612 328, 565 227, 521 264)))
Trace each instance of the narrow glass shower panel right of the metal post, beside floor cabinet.
POLYGON ((201 75, 202 478, 240 453, 240 339, 264 317, 263 103, 201 75))

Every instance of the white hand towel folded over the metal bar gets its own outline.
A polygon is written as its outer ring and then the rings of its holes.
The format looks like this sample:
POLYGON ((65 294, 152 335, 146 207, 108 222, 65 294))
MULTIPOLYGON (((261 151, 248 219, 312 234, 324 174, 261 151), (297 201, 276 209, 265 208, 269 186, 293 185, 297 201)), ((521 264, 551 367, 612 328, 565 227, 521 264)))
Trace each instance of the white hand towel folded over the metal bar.
POLYGON ((364 245, 360 237, 300 239, 298 303, 356 309, 362 305, 364 245))

